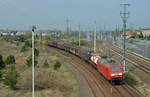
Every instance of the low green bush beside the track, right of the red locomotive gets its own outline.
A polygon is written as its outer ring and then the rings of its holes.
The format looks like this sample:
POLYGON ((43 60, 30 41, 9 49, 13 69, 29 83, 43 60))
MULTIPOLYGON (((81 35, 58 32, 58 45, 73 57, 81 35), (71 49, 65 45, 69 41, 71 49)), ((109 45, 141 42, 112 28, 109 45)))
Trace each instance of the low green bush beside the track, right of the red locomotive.
POLYGON ((129 85, 136 85, 137 81, 134 78, 134 76, 132 76, 129 73, 124 73, 124 77, 125 77, 125 81, 129 84, 129 85))

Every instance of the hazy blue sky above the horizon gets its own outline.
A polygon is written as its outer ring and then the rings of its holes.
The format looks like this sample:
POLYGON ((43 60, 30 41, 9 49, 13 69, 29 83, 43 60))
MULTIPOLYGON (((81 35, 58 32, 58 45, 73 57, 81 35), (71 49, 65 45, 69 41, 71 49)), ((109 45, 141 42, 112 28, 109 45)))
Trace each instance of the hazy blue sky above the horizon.
POLYGON ((81 24, 83 30, 122 27, 120 4, 128 2, 134 28, 150 26, 150 0, 0 0, 0 29, 25 29, 36 25, 38 29, 66 29, 66 17, 72 29, 81 24))

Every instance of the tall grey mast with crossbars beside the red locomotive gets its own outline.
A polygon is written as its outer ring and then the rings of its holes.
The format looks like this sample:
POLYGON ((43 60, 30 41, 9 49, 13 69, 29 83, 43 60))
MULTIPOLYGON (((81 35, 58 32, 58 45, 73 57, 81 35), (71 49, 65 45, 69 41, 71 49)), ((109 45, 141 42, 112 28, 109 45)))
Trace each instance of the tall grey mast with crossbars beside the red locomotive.
POLYGON ((127 12, 127 7, 130 4, 121 4, 123 6, 124 12, 120 12, 121 18, 123 20, 123 33, 124 33, 124 42, 123 42, 123 65, 124 65, 124 72, 126 72, 126 23, 129 17, 129 12, 127 12))

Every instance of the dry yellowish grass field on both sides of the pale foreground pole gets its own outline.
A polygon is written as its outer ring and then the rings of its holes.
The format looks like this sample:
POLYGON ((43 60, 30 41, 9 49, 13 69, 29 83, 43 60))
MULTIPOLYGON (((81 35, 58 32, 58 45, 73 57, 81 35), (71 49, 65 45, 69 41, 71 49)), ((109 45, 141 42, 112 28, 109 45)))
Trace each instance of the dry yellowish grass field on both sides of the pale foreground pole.
MULTIPOLYGON (((8 42, 3 42, 0 46, 4 59, 10 54, 16 58, 16 70, 20 73, 18 90, 11 90, 0 81, 0 97, 31 97, 32 96, 32 70, 25 63, 31 54, 31 48, 27 52, 21 53, 21 47, 8 42)), ((38 68, 35 67, 35 97, 78 97, 78 85, 72 73, 62 65, 58 71, 53 70, 55 61, 63 55, 46 46, 38 46, 40 55, 38 57, 38 68), (45 59, 50 64, 49 68, 43 68, 45 59)), ((4 73, 7 71, 5 68, 4 73)))

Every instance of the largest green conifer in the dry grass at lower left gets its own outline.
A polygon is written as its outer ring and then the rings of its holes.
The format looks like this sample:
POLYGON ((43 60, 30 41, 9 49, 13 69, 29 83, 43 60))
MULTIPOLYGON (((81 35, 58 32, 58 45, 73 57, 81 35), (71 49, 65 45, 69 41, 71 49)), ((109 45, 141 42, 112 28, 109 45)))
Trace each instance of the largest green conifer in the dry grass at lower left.
POLYGON ((19 78, 19 73, 16 71, 15 64, 11 64, 9 71, 5 76, 4 83, 10 86, 10 88, 15 89, 16 84, 18 82, 18 78, 19 78))

